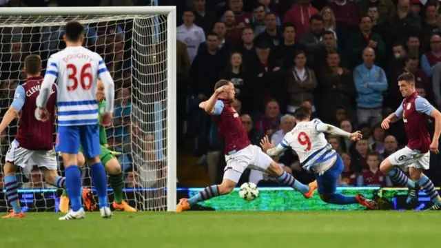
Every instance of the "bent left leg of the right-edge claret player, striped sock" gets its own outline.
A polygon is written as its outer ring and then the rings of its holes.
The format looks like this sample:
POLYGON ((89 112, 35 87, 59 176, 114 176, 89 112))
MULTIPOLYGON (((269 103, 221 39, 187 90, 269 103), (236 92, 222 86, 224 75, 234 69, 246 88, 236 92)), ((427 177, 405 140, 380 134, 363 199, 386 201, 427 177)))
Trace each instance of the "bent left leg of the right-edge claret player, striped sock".
POLYGON ((402 187, 408 187, 406 203, 416 202, 418 198, 418 191, 420 187, 414 180, 411 180, 402 172, 402 170, 392 165, 389 157, 385 158, 380 164, 380 171, 382 174, 389 176, 393 183, 396 183, 402 187))

